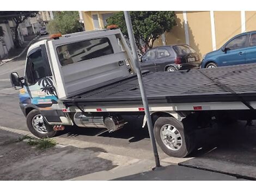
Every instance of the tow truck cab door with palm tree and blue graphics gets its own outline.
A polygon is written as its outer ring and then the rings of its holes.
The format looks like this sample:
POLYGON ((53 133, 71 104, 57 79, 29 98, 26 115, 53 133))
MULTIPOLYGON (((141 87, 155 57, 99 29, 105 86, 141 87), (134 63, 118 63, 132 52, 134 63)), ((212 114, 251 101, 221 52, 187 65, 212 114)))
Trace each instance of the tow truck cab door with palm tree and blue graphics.
POLYGON ((57 93, 53 86, 52 73, 44 51, 40 46, 27 55, 25 69, 25 87, 20 90, 20 102, 23 105, 33 104, 48 107, 57 103, 57 93))

